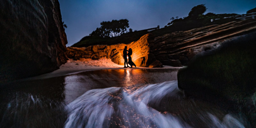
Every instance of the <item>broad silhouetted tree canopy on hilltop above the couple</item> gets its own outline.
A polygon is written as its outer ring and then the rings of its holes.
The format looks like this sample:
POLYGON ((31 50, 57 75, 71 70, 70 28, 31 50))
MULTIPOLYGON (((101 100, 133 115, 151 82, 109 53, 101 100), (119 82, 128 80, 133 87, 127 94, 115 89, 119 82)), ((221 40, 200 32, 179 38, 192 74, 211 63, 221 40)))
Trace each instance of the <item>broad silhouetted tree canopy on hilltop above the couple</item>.
POLYGON ((102 21, 100 28, 96 28, 90 36, 116 37, 122 35, 129 28, 129 20, 102 21))

